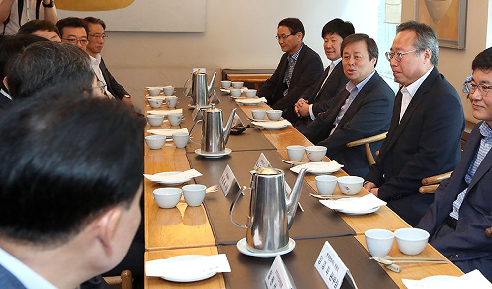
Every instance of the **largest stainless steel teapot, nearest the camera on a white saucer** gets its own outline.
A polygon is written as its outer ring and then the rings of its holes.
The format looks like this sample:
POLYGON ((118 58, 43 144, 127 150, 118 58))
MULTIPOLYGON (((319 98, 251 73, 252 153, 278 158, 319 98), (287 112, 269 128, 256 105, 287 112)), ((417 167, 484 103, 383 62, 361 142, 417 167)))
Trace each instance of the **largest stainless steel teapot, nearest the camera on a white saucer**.
POLYGON ((256 253, 275 253, 288 247, 289 229, 294 221, 306 170, 307 168, 303 168, 299 172, 289 197, 285 194, 283 170, 262 167, 249 172, 250 187, 243 187, 229 211, 231 222, 247 229, 248 250, 256 253), (239 225, 232 220, 232 212, 244 190, 251 190, 248 225, 239 225))

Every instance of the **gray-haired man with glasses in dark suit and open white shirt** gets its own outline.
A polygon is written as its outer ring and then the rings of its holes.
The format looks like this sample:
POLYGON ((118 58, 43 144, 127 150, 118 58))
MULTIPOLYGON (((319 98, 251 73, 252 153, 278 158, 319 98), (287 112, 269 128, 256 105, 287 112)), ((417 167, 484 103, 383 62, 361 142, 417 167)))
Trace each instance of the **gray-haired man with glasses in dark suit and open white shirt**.
POLYGON ((439 43, 434 29, 409 21, 397 32, 386 58, 402 87, 365 187, 415 226, 434 201, 433 194, 419 193, 421 181, 456 167, 465 120, 460 97, 435 67, 439 43))

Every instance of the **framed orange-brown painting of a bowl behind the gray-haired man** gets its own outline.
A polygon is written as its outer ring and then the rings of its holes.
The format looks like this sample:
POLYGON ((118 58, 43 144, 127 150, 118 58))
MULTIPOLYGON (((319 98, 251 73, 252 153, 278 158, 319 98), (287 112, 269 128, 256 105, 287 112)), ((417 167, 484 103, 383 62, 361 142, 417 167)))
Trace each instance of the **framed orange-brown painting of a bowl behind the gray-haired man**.
POLYGON ((464 49, 467 0, 418 0, 416 19, 437 32, 439 46, 464 49))

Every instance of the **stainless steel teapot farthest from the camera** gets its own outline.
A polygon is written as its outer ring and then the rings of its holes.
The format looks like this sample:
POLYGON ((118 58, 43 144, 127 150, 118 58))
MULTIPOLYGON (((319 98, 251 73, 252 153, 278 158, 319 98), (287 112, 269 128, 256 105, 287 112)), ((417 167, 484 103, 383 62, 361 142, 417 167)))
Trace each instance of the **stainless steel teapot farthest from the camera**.
POLYGON ((190 104, 192 106, 196 106, 197 104, 200 106, 206 106, 209 104, 209 99, 210 96, 212 96, 212 89, 214 88, 216 75, 217 72, 214 73, 210 84, 208 84, 207 73, 201 70, 191 73, 191 79, 188 79, 184 84, 184 87, 186 87, 186 84, 188 84, 188 82, 191 80, 191 89, 188 91, 188 93, 191 92, 191 95, 187 94, 184 89, 183 93, 185 96, 191 97, 190 104))

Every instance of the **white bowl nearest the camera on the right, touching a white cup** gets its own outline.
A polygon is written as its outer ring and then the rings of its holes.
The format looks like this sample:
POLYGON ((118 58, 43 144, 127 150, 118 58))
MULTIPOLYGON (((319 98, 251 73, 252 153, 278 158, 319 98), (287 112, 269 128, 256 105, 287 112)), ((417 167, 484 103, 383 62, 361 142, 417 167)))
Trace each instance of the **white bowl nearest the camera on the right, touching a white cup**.
POLYGON ((405 255, 422 253, 429 241, 429 232, 419 228, 402 228, 395 231, 398 249, 405 255))

